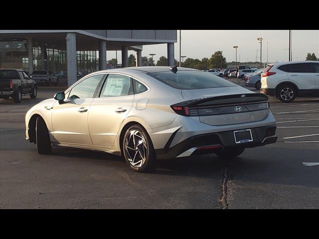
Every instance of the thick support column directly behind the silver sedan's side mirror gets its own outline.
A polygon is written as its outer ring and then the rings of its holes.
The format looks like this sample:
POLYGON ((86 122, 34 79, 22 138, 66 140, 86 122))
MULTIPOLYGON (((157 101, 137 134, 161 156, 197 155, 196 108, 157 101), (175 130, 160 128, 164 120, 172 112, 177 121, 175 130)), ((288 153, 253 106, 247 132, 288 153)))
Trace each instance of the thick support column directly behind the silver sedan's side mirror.
POLYGON ((76 35, 74 32, 66 34, 66 67, 68 86, 71 86, 77 81, 76 35))

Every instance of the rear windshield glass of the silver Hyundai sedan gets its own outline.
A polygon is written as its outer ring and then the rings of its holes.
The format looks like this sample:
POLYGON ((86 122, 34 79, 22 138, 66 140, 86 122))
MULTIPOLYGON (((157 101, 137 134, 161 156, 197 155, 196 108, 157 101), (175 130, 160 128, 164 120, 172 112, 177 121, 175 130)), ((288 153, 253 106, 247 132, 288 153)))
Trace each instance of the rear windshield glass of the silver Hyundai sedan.
POLYGON ((149 76, 180 90, 237 86, 219 76, 202 71, 177 71, 176 73, 165 71, 151 73, 149 76))

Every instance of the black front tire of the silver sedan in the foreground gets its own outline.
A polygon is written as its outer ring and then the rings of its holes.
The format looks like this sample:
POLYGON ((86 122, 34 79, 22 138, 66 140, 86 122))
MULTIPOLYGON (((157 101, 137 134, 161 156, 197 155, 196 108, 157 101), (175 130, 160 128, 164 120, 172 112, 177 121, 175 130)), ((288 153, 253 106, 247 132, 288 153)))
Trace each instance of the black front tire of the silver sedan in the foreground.
POLYGON ((52 151, 48 128, 41 117, 36 119, 35 124, 36 149, 39 154, 49 154, 52 151))

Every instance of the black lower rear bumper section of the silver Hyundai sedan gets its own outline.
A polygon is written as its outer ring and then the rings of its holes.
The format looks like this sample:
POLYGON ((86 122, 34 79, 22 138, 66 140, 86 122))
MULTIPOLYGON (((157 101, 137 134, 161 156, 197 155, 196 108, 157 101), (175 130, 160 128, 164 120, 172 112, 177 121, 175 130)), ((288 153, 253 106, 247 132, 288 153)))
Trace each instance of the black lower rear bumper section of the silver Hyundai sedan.
POLYGON ((236 143, 234 130, 198 134, 189 137, 175 146, 167 149, 156 149, 158 159, 186 157, 198 154, 211 154, 220 152, 225 148, 244 147, 253 148, 275 143, 277 140, 276 126, 262 126, 250 128, 253 136, 252 142, 236 143))

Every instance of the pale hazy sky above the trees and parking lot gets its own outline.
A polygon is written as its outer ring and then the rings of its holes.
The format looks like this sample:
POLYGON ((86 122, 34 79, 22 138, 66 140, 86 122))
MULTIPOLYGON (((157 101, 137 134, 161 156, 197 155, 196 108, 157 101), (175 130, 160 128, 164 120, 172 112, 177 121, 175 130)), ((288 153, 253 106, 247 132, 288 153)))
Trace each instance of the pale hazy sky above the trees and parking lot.
MULTIPOLYGON (((257 40, 262 37, 262 61, 268 62, 288 61, 289 30, 181 30, 181 55, 186 58, 203 57, 210 58, 215 51, 223 51, 227 62, 236 60, 235 48, 237 48, 237 61, 256 61, 258 49, 258 61, 260 61, 260 43, 257 40)), ((293 60, 305 60, 307 53, 315 53, 319 57, 319 30, 293 30, 292 53, 293 60)), ((160 56, 167 57, 167 44, 144 45, 142 56, 153 57, 155 64, 160 56)), ((135 51, 128 53, 135 54, 135 51)), ((177 31, 177 43, 174 43, 174 57, 179 59, 179 30, 177 31)), ((115 58, 115 51, 107 52, 107 59, 115 58)), ((121 51, 118 51, 118 61, 122 62, 121 51)))

